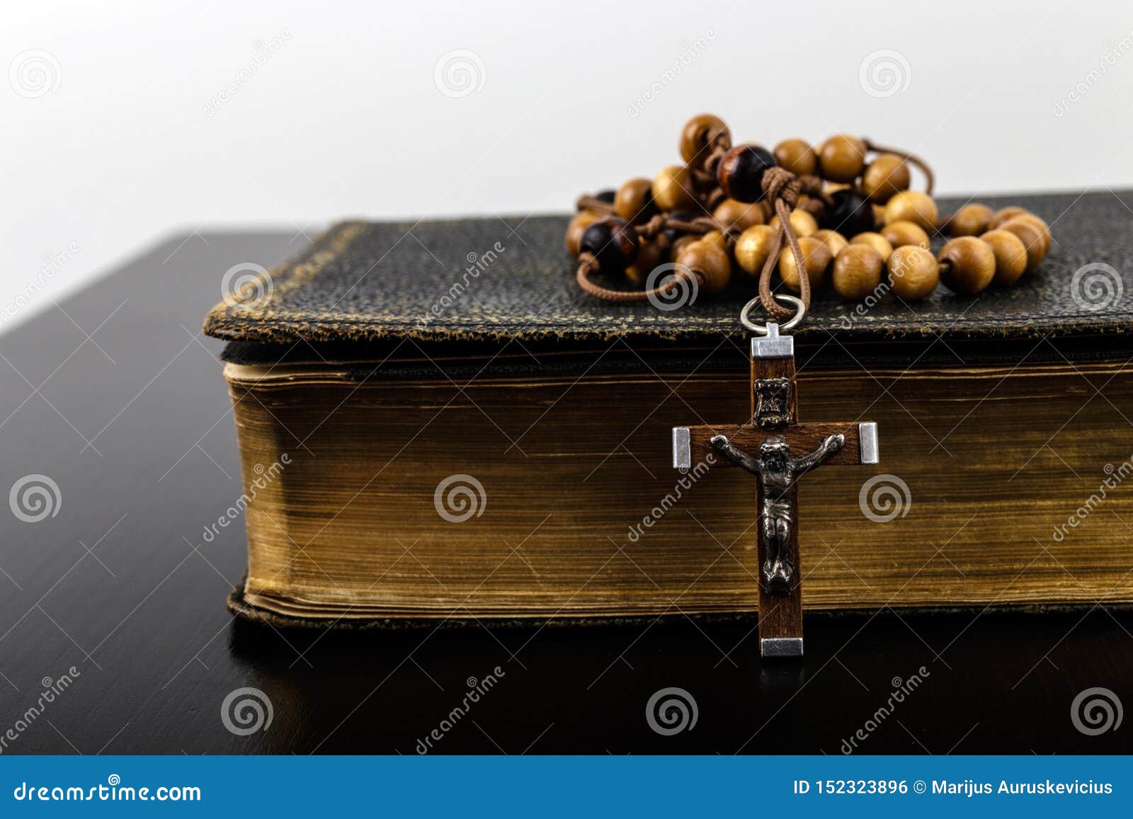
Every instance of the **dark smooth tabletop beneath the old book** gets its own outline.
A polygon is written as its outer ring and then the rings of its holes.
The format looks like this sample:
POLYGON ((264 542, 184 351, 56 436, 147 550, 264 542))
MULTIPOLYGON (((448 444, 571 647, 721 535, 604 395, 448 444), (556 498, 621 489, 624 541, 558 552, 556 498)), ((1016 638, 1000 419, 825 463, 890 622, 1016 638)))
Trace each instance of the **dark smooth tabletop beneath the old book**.
POLYGON ((414 753, 468 677, 497 665, 434 752, 837 754, 859 730, 861 753, 1133 748, 1133 725, 1094 736, 1071 719, 1093 686, 1133 706, 1133 616, 1102 607, 809 617, 807 657, 787 665, 760 664, 752 622, 366 634, 233 622, 242 524, 211 543, 203 530, 241 487, 220 344, 201 319, 225 270, 305 241, 174 236, 0 336, 0 489, 31 475, 59 488, 39 522, 0 515, 5 753, 414 753), (273 718, 239 735, 221 707, 246 686, 273 718), (696 701, 691 730, 650 728, 665 688, 696 701))

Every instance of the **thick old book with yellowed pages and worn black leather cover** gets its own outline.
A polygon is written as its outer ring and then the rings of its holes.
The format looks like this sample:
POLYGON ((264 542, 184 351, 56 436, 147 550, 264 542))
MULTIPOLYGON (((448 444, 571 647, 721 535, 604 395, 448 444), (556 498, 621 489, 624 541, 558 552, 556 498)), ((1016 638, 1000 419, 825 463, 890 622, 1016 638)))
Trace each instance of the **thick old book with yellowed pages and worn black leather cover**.
MULTIPOLYGON (((1012 197, 1029 281, 844 302, 794 331, 808 421, 880 462, 799 487, 808 609, 1133 602, 1133 194, 1012 197)), ((945 203, 947 207, 949 203, 945 203)), ((288 623, 757 607, 756 487, 673 469, 671 428, 749 413, 735 276, 679 310, 580 293, 564 216, 338 224, 214 308, 248 572, 288 623)))

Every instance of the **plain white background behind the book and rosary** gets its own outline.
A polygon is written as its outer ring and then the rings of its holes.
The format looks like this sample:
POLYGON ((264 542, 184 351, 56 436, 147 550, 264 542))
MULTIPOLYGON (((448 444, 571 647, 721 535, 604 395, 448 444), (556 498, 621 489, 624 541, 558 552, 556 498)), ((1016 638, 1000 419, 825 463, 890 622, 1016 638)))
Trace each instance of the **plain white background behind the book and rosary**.
POLYGON ((913 150, 942 193, 1133 185, 1127 1, 36 1, 0 63, 5 331, 173 231, 563 211, 701 111, 913 150))

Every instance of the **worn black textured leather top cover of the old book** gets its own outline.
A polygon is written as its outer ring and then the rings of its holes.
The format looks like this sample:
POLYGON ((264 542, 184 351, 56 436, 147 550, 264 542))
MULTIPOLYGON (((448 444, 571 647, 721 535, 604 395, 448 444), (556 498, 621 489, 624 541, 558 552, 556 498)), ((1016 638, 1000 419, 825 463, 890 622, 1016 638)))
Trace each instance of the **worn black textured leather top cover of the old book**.
MULTIPOLYGON (((1050 223, 1054 242, 1037 271, 1013 288, 976 297, 940 287, 906 305, 891 293, 857 317, 857 302, 827 289, 816 297, 796 338, 804 344, 825 343, 830 334, 842 343, 926 343, 938 336, 949 343, 965 338, 1020 342, 1049 333, 1123 345, 1124 339, 1114 336, 1133 327, 1133 191, 977 198, 993 206, 1025 206, 1050 223), (1122 272, 1124 295, 1105 309, 1090 309, 1072 293, 1075 271, 1090 263, 1122 272)), ((942 201, 942 213, 963 202, 942 201)), ((586 296, 563 248, 566 221, 561 215, 341 222, 272 272, 263 304, 221 302, 205 319, 205 332, 255 342, 245 347, 246 359, 256 358, 248 350, 261 344, 267 351, 297 342, 352 358, 351 350, 404 339, 426 349, 517 340, 581 351, 619 336, 663 349, 712 348, 725 336, 738 342, 747 336, 738 314, 756 287, 742 272, 723 296, 701 296, 673 312, 586 296)), ((399 356, 411 353, 403 349, 399 356)), ((239 358, 239 345, 231 355, 239 358)))

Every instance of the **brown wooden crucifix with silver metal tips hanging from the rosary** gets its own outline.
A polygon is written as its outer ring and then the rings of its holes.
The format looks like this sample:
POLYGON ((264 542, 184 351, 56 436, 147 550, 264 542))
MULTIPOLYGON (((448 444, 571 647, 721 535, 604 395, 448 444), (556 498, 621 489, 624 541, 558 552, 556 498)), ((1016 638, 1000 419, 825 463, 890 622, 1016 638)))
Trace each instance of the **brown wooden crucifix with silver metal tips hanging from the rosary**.
POLYGON ((739 466, 757 478, 759 521, 759 652, 802 656, 799 570, 799 478, 824 463, 877 463, 877 424, 800 424, 794 339, 751 339, 751 419, 735 427, 674 427, 673 467, 739 466), (792 455, 791 453, 800 453, 792 455))

